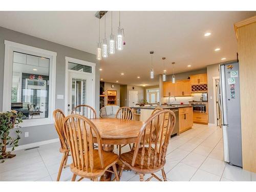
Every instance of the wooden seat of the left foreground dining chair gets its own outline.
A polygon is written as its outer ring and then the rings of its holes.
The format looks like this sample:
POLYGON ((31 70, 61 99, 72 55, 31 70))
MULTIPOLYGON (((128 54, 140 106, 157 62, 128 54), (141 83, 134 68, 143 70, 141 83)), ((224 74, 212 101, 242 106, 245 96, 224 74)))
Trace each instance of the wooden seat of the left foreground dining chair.
MULTIPOLYGON (((83 177, 83 178, 96 178, 100 177, 108 168, 113 166, 114 164, 117 163, 119 157, 117 154, 114 154, 112 152, 105 152, 102 151, 103 155, 103 168, 100 167, 100 157, 98 150, 93 150, 93 159, 94 159, 94 165, 93 165, 93 170, 91 170, 90 167, 88 167, 88 170, 79 170, 77 167, 74 166, 72 163, 70 165, 71 172, 74 174, 83 177)), ((89 158, 90 162, 90 158, 89 158)))

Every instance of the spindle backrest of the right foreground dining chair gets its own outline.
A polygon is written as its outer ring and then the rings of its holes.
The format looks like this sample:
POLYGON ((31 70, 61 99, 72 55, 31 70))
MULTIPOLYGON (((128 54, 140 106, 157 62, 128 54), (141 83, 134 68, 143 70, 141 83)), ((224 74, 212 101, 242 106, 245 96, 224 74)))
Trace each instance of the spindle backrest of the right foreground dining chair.
POLYGON ((140 162, 141 169, 162 166, 165 163, 167 146, 175 123, 175 114, 170 110, 159 110, 148 118, 137 137, 132 166, 136 162, 140 162), (154 137, 153 134, 155 134, 154 137), (145 155, 147 158, 144 158, 145 155))

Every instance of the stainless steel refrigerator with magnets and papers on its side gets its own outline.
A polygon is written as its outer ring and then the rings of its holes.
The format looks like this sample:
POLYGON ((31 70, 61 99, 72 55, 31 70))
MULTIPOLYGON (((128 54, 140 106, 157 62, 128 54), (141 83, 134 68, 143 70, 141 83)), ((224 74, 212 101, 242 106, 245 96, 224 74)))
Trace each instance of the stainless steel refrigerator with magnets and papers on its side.
POLYGON ((218 96, 222 113, 224 161, 242 167, 239 62, 220 65, 218 96))

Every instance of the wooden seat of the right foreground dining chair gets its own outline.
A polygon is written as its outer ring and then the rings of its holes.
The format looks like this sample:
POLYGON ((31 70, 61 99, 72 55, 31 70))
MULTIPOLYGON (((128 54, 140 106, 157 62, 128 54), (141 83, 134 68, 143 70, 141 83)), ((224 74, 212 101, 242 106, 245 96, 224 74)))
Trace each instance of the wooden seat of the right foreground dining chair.
MULTIPOLYGON (((121 156, 119 157, 119 159, 121 160, 121 162, 123 164, 125 164, 125 166, 129 167, 130 169, 133 169, 135 172, 140 173, 141 170, 143 169, 143 173, 144 174, 151 174, 152 172, 158 172, 159 170, 161 170, 164 165, 165 165, 165 160, 163 163, 161 163, 159 166, 154 166, 154 148, 151 148, 151 156, 148 156, 148 147, 144 148, 144 157, 143 157, 143 165, 141 166, 141 159, 142 159, 142 147, 139 148, 139 152, 138 152, 138 156, 137 159, 135 161, 134 166, 132 166, 132 161, 133 161, 133 155, 134 155, 134 150, 130 151, 130 152, 126 152, 126 153, 122 153, 121 156), (150 165, 147 165, 147 160, 151 159, 150 161, 150 165)), ((159 153, 156 153, 156 159, 155 161, 158 164, 158 155, 159 153)))

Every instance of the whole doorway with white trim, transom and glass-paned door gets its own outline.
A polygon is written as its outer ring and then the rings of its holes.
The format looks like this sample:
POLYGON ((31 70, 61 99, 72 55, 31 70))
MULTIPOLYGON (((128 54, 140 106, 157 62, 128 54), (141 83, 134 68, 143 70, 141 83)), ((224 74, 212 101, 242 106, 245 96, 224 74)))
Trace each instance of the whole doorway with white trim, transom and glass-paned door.
POLYGON ((66 57, 65 114, 80 104, 95 109, 95 63, 66 57))

